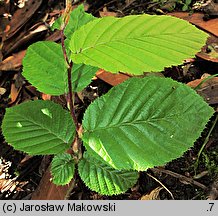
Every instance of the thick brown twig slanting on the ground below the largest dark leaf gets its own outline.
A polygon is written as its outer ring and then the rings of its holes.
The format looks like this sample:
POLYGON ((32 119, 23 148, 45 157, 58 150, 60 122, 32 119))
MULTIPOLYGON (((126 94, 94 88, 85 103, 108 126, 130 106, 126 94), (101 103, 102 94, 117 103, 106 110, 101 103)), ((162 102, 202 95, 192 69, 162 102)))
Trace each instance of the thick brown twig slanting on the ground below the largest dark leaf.
POLYGON ((186 176, 183 176, 183 175, 181 175, 181 174, 172 172, 172 171, 170 171, 170 170, 165 170, 165 169, 163 169, 163 168, 151 168, 150 170, 152 170, 153 172, 165 173, 165 174, 171 175, 171 176, 173 176, 173 177, 175 177, 175 178, 178 178, 178 179, 181 180, 181 181, 186 181, 186 182, 188 182, 188 183, 190 183, 190 184, 196 185, 196 186, 202 188, 203 190, 206 190, 206 189, 207 189, 207 187, 206 187, 205 185, 203 185, 203 184, 201 184, 201 183, 199 183, 199 182, 193 180, 192 178, 188 178, 188 177, 186 177, 186 176))

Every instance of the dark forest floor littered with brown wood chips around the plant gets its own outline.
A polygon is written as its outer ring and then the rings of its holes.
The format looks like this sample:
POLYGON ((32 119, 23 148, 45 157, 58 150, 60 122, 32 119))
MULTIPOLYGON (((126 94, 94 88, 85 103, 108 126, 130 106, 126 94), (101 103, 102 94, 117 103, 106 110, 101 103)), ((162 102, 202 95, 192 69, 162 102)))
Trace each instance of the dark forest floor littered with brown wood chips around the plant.
MULTIPOLYGON (((77 4, 81 3, 79 1, 77 4)), ((195 87, 204 77, 218 71, 218 10, 204 1, 192 1, 189 5, 181 1, 107 0, 86 1, 87 12, 94 16, 126 16, 130 14, 171 14, 185 11, 185 16, 200 13, 191 20, 211 35, 207 47, 195 59, 187 59, 182 66, 166 68, 162 76, 195 87), (203 6, 202 6, 203 5, 203 6), (206 24, 205 24, 206 22, 206 24), (214 25, 216 22, 217 25, 214 25), (205 27, 206 26, 206 27, 205 27), (210 55, 211 45, 216 44, 210 55)), ((183 1, 185 2, 185 1, 183 1)), ((43 95, 22 77, 22 59, 27 47, 40 40, 60 41, 60 35, 53 33, 49 25, 60 16, 64 1, 28 0, 0 2, 0 124, 7 107, 24 101, 43 99, 43 95), (21 4, 23 2, 23 5, 21 4), (19 19, 20 18, 20 19, 19 19)), ((180 16, 181 14, 174 14, 180 16)), ((101 73, 99 73, 101 74, 101 73)), ((97 76, 82 92, 83 103, 78 100, 80 115, 98 96, 105 94, 120 77, 97 76)), ((198 93, 218 111, 218 78, 204 83, 198 93)), ((122 80, 122 79, 121 79, 122 80)), ((81 99, 81 98, 80 98, 81 99)), ((52 100, 62 103, 61 97, 52 100)), ((81 118, 81 117, 80 117, 81 118)), ((185 135, 184 135, 185 136, 185 135)), ((30 157, 15 151, 0 134, 0 199, 31 199, 42 180, 50 157, 30 157)), ((117 196, 102 196, 90 191, 78 179, 69 199, 176 199, 205 200, 218 197, 218 124, 217 113, 207 124, 202 136, 182 157, 164 167, 148 169, 140 173, 137 184, 126 193, 117 196), (202 152, 201 152, 202 149, 202 152), (201 154, 199 153, 201 152, 201 154), (200 154, 200 155, 199 155, 200 154)))

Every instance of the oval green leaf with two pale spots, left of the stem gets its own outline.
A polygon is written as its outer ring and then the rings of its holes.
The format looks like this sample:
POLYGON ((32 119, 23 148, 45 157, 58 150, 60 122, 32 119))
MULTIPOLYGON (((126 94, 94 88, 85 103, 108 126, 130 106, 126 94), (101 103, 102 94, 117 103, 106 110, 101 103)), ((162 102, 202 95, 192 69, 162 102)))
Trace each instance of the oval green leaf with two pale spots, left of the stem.
POLYGON ((72 144, 75 126, 70 113, 51 101, 30 101, 6 109, 6 141, 30 155, 58 154, 72 144))

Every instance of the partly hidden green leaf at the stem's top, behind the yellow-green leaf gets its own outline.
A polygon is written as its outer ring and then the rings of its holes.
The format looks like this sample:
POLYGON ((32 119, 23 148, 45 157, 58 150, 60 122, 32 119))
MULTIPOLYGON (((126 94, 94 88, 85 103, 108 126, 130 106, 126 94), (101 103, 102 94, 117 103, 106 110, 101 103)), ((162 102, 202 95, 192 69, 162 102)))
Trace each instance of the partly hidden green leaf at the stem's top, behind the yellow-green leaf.
MULTIPOLYGON (((64 34, 68 38, 81 26, 87 24, 88 22, 97 19, 96 17, 88 14, 84 11, 84 6, 81 4, 76 9, 74 9, 68 21, 66 28, 64 29, 64 34)), ((52 26, 52 30, 60 29, 62 23, 62 17, 59 17, 52 26)))

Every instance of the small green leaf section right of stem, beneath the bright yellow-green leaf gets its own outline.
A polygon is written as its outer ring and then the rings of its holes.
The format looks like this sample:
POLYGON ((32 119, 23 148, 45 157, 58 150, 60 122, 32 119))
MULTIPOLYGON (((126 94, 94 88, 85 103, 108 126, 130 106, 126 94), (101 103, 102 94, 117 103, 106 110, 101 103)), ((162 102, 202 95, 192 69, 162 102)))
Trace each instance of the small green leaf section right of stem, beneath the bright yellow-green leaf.
POLYGON ((84 65, 75 64, 72 71, 72 88, 74 92, 82 91, 89 85, 91 79, 95 76, 98 68, 84 65))

